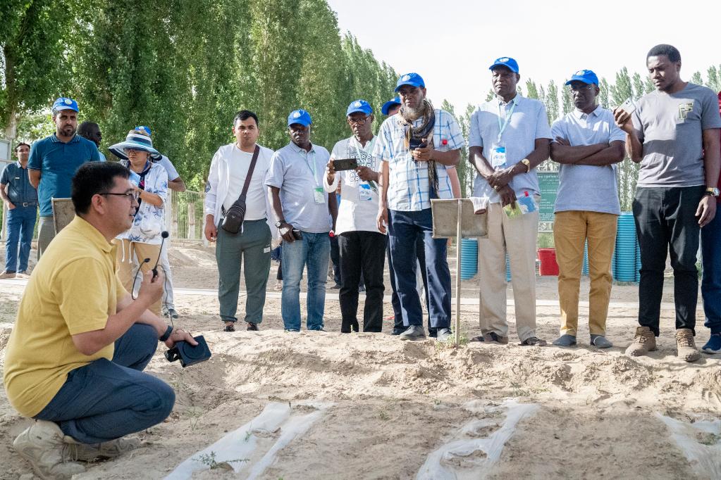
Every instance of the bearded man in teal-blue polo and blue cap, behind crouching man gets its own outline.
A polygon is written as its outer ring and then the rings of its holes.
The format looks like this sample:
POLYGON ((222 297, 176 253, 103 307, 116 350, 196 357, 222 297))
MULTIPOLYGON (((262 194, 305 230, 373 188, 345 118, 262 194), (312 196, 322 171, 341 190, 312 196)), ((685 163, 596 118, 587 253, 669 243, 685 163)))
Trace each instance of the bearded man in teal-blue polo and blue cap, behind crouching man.
POLYGON ((37 259, 55 237, 52 199, 70 198, 75 171, 86 162, 101 161, 97 146, 76 134, 78 102, 61 97, 53 104, 53 135, 38 140, 30 149, 27 162, 30 184, 37 189, 40 226, 37 232, 37 259))

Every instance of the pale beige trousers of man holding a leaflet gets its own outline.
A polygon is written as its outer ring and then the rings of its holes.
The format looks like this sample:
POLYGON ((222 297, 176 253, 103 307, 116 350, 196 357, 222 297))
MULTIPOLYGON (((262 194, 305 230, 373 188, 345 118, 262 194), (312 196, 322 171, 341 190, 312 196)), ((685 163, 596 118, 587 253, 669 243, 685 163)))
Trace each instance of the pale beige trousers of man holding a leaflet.
POLYGON ((516 332, 523 342, 536 336, 536 239, 539 212, 508 218, 500 203, 488 206, 488 238, 478 240, 481 332, 508 337, 505 311, 505 255, 510 261, 516 332))

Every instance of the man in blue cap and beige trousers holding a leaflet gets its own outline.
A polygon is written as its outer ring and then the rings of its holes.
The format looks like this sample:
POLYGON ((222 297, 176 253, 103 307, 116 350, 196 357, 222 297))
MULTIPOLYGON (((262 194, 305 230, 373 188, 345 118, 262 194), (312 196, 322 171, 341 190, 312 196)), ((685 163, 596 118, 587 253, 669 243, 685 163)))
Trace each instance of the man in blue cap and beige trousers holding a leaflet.
POLYGON ((476 168, 474 196, 487 197, 488 238, 478 241, 480 323, 485 342, 508 343, 505 256, 510 260, 516 332, 521 345, 545 345, 536 337, 536 239, 539 180, 536 166, 549 155, 551 129, 544 105, 516 91, 518 63, 492 63, 496 98, 471 117, 469 162, 476 168), (521 209, 516 197, 523 199, 521 209), (504 209, 506 207, 506 209, 504 209))

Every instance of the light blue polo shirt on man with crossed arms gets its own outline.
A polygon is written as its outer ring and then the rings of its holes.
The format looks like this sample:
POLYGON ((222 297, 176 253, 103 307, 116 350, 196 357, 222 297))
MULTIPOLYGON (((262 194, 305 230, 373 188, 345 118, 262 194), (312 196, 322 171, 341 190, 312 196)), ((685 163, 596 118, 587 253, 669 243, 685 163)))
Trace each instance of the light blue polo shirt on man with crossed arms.
MULTIPOLYGON (((610 110, 596 107, 590 114, 580 110, 565 114, 553 122, 551 134, 561 137, 572 147, 626 141, 626 134, 616 126, 610 110)), ((608 166, 559 166, 559 186, 554 212, 584 210, 619 215, 619 191, 616 184, 616 163, 608 166)))

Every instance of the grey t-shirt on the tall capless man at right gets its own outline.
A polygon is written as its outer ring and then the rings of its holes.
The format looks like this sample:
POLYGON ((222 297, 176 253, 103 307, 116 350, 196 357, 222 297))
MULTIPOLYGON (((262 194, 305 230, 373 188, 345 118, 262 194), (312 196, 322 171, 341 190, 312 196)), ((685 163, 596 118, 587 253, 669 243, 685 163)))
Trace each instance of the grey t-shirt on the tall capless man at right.
POLYGON ((702 132, 721 128, 716 94, 688 83, 675 94, 653 91, 633 114, 643 144, 638 186, 705 185, 702 132))

